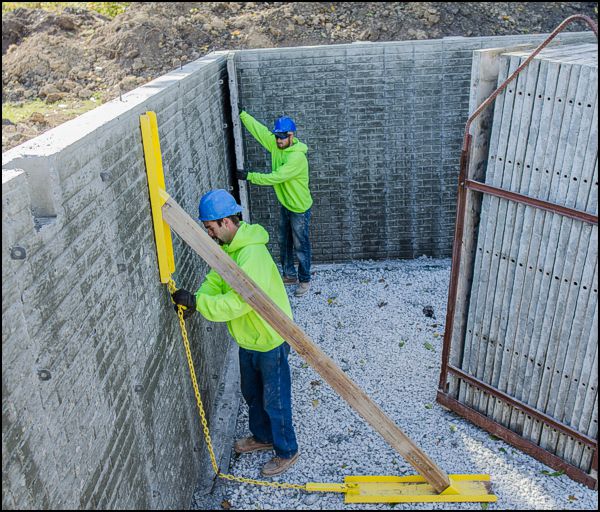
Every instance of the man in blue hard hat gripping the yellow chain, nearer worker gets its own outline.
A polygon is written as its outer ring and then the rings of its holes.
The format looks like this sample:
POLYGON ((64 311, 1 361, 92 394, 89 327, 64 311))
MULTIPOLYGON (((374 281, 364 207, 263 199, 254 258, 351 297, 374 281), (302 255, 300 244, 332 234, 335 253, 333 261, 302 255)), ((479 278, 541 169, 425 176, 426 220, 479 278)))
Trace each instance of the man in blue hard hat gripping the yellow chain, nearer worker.
MULTIPOLYGON (((202 196, 199 220, 239 267, 292 318, 285 286, 266 244, 267 231, 259 224, 240 220, 242 207, 226 190, 202 196)), ((241 388, 248 404, 252 436, 235 442, 238 454, 275 450, 262 468, 263 476, 283 473, 298 460, 298 444, 292 424, 290 346, 231 288, 211 270, 196 292, 179 289, 172 294, 175 309, 184 316, 194 311, 213 322, 227 322, 239 345, 241 388)))

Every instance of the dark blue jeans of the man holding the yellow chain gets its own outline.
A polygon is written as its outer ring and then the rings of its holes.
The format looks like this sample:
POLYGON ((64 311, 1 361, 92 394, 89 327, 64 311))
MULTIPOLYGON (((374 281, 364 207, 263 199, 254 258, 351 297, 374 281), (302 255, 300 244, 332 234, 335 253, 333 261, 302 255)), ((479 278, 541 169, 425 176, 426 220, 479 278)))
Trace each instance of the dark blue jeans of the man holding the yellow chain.
POLYGON ((240 347, 240 378, 250 432, 257 441, 273 443, 276 455, 285 459, 298 451, 292 423, 289 353, 286 342, 268 352, 240 347))

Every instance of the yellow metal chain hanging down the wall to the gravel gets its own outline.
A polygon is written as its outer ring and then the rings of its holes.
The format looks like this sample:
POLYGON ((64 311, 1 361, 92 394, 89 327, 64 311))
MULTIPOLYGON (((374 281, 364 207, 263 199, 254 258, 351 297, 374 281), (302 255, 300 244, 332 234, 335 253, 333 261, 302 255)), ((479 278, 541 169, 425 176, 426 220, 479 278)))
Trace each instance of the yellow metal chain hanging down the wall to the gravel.
MULTIPOLYGON (((169 293, 174 293, 177 290, 175 285, 175 281, 172 278, 169 279, 167 283, 169 287, 169 293)), ((196 403, 198 404, 198 412, 200 413, 200 419, 202 421, 202 429, 204 430, 204 439, 206 440, 206 446, 208 448, 208 453, 210 455, 210 461, 212 463, 213 471, 219 478, 223 478, 225 480, 232 480, 235 482, 246 483, 246 484, 254 484, 254 485, 262 485, 265 487, 277 487, 280 489, 300 489, 306 491, 306 484, 289 484, 286 482, 268 482, 266 480, 254 480, 252 478, 244 478, 241 476, 229 475, 226 473, 221 473, 219 466, 217 464, 217 459, 215 457, 215 452, 213 450, 212 441, 210 438, 210 432, 208 430, 208 423, 206 421, 206 414, 204 412, 204 406, 202 405, 202 398, 200 397, 200 390, 198 388, 198 381, 196 379, 196 372, 194 370, 194 362, 192 360, 192 351, 190 350, 190 342, 188 340, 187 329, 185 328, 185 320, 183 319, 183 307, 179 306, 177 308, 177 317, 179 318, 179 327, 181 328, 181 336, 183 337, 183 344, 185 346, 185 355, 188 361, 188 367, 190 369, 190 378, 192 379, 192 386, 194 387, 194 394, 196 395, 196 403)))

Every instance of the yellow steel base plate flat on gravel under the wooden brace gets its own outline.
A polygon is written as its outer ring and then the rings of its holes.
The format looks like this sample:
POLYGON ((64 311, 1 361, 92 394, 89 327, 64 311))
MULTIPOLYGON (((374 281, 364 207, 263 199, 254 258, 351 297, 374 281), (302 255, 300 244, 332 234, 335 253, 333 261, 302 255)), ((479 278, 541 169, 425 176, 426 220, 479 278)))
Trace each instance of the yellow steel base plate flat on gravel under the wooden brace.
POLYGON ((448 475, 450 487, 436 493, 415 476, 347 476, 346 503, 495 502, 489 475, 448 475))

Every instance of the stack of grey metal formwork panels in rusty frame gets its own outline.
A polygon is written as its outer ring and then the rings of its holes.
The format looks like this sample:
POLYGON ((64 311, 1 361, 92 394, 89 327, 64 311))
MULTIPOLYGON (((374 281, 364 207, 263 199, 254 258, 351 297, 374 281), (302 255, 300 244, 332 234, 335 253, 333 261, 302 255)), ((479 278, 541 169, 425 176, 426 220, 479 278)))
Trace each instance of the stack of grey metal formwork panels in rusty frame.
MULTIPOLYGON (((528 55, 504 54, 498 83, 528 55)), ((596 45, 544 50, 497 97, 485 184, 543 207, 484 194, 462 339, 450 348, 458 371, 441 390, 588 484, 597 482, 597 98, 596 45)))

